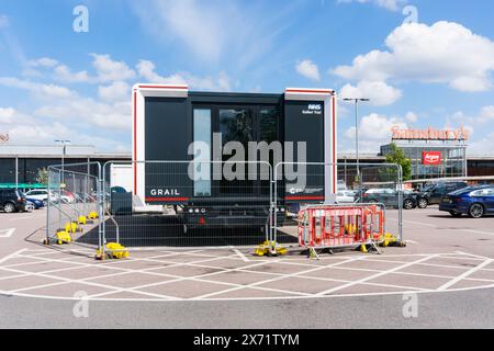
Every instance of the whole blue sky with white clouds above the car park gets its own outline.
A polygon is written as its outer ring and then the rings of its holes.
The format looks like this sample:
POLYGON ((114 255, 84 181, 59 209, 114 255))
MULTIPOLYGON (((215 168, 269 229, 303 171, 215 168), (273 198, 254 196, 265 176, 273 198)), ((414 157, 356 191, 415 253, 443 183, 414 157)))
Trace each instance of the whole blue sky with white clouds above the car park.
MULTIPOLYGON (((0 0, 0 133, 130 151, 135 82, 325 87, 371 99, 363 150, 377 152, 392 125, 462 125, 472 154, 492 152, 492 13, 491 0, 0 0), (87 33, 72 29, 80 4, 87 33)), ((351 151, 352 106, 339 105, 338 145, 351 151)))

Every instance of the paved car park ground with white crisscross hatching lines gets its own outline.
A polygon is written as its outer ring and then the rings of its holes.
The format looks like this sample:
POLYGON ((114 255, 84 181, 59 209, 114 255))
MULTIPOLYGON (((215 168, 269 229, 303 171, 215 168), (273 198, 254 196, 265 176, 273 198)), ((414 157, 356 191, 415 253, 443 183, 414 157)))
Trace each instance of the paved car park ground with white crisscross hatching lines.
POLYGON ((405 211, 407 247, 382 254, 155 248, 105 261, 40 245, 45 210, 0 217, 2 328, 494 327, 493 217, 405 211))

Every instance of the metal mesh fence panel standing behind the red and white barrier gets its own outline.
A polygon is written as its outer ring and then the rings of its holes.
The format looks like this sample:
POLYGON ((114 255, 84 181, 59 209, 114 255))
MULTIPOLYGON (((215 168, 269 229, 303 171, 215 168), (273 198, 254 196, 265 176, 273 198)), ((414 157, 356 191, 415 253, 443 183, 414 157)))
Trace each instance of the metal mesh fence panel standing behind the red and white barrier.
MULTIPOLYGON (((271 240, 297 236, 297 213, 317 204, 383 203, 386 207, 385 228, 403 240, 403 207, 412 195, 404 195, 402 170, 390 163, 324 163, 280 162, 273 167, 274 210, 287 207, 287 218, 280 224, 274 217, 271 240), (330 177, 337 170, 336 194, 325 195, 330 177), (326 170, 326 172, 325 172, 326 170), (296 184, 296 185, 293 185, 296 184)), ((413 204, 416 206, 416 201, 413 204)))

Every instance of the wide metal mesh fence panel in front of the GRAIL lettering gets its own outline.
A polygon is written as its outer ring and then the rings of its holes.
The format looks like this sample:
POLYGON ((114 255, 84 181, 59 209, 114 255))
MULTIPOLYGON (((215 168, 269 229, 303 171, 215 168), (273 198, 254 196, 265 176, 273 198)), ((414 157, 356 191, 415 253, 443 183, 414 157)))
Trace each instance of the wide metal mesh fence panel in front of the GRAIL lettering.
POLYGON ((255 247, 270 239, 269 162, 110 161, 102 170, 103 242, 141 250, 206 249, 255 247), (125 166, 131 177, 112 173, 125 166))

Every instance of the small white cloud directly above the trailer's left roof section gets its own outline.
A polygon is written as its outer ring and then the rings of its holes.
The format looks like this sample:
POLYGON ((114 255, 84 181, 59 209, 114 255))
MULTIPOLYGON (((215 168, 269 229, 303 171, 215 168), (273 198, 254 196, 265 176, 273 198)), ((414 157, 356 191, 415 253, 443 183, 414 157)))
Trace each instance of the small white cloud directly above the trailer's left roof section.
POLYGON ((137 66, 137 72, 148 82, 164 84, 189 84, 191 89, 231 91, 232 83, 228 75, 220 72, 216 78, 198 77, 188 72, 173 73, 167 77, 160 76, 155 71, 155 64, 149 60, 141 60, 137 66))

